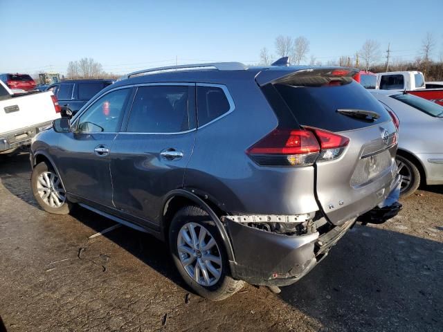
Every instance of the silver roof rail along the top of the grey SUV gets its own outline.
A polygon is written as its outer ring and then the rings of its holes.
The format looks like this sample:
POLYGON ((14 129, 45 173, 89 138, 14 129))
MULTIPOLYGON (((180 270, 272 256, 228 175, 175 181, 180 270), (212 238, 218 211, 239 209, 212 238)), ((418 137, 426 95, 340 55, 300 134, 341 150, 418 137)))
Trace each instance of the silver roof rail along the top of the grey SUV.
MULTIPOLYGON (((162 73, 162 72, 170 72, 170 71, 187 71, 190 70, 215 70, 215 71, 244 71, 248 67, 240 62, 214 62, 209 64, 180 64, 179 66, 166 66, 166 67, 158 67, 158 68, 150 68, 143 69, 142 71, 134 71, 133 73, 129 73, 120 79, 129 78, 132 76, 140 76, 140 75, 149 75, 151 73, 162 73)), ((120 80, 119 79, 119 80, 120 80)))

